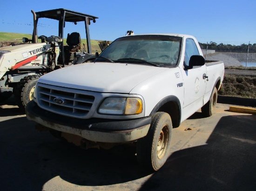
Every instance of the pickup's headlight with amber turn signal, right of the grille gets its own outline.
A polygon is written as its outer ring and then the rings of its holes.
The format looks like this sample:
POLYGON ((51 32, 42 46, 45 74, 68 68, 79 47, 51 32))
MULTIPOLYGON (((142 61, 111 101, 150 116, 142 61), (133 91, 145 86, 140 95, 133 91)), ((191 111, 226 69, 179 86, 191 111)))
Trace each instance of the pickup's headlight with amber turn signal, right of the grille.
POLYGON ((142 100, 137 97, 108 97, 98 110, 100 114, 136 115, 142 112, 142 100))

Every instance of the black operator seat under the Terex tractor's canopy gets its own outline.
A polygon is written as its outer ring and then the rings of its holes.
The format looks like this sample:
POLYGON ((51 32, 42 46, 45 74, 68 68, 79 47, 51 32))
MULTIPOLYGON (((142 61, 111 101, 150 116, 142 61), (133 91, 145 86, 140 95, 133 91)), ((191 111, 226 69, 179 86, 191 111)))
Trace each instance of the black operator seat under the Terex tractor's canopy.
POLYGON ((81 51, 81 37, 78 32, 67 34, 67 46, 64 46, 65 64, 72 64, 74 52, 81 51))

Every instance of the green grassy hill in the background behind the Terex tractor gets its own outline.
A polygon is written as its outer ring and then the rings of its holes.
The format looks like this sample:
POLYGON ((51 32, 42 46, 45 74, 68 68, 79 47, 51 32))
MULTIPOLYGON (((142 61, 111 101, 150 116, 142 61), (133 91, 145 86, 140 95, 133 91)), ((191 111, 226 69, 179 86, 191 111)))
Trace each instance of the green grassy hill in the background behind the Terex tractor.
MULTIPOLYGON (((22 38, 26 37, 28 39, 32 39, 32 34, 23 34, 23 33, 12 33, 12 32, 0 32, 0 43, 8 45, 7 43, 10 42, 17 42, 17 44, 22 43, 22 38)), ((63 39, 64 45, 66 44, 66 38, 63 39)), ((40 40, 39 40, 40 42, 40 40)), ((83 50, 83 44, 85 44, 87 50, 87 43, 86 39, 81 39, 81 49, 83 50)), ((101 49, 98 45, 98 40, 91 40, 92 52, 95 53, 98 51, 101 52, 101 49)))

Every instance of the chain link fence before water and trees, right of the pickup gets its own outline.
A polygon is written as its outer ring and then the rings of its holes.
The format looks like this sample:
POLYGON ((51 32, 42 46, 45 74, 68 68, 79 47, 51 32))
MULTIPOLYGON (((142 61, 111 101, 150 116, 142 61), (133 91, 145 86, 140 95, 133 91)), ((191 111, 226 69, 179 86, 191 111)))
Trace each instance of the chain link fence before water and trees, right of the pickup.
POLYGON ((224 45, 199 43, 206 60, 221 60, 225 67, 241 67, 250 69, 256 67, 256 43, 241 45, 224 45))

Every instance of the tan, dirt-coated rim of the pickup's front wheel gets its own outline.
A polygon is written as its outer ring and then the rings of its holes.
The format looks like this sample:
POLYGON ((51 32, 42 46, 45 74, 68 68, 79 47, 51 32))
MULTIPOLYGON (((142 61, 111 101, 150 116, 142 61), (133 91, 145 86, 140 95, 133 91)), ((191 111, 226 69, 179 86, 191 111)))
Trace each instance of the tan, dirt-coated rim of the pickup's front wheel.
POLYGON ((166 153, 166 146, 168 142, 168 126, 164 126, 159 134, 157 143, 157 157, 161 159, 166 153))

